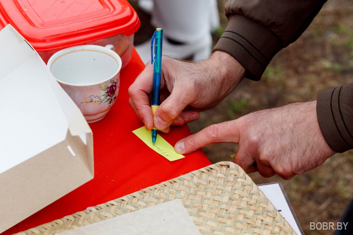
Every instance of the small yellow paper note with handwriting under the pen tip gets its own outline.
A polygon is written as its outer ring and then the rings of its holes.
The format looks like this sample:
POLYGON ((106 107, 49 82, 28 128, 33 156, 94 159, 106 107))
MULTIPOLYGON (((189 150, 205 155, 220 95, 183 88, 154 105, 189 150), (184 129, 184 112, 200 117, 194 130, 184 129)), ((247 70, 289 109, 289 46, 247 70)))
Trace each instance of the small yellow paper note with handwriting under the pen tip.
POLYGON ((133 134, 137 135, 148 147, 155 150, 157 153, 168 159, 169 161, 175 161, 181 159, 185 156, 176 153, 174 147, 171 146, 166 140, 164 140, 160 135, 157 134, 156 143, 153 146, 151 131, 145 129, 144 126, 132 131, 133 134))

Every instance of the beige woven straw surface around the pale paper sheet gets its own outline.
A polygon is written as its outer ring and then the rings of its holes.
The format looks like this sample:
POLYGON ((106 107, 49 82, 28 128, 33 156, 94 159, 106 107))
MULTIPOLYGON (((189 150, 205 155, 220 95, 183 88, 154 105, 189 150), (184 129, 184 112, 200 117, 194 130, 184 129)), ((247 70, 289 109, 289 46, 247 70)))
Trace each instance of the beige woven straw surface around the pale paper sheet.
POLYGON ((210 165, 20 234, 60 233, 177 198, 201 234, 295 234, 251 178, 232 162, 210 165))

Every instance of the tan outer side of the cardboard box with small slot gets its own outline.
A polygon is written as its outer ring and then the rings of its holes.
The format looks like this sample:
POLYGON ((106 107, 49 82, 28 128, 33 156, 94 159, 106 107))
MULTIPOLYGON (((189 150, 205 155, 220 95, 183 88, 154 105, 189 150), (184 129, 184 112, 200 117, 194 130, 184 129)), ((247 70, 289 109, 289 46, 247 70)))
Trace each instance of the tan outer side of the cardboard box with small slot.
POLYGON ((87 135, 85 145, 67 131, 64 141, 0 174, 0 233, 93 178, 87 135))

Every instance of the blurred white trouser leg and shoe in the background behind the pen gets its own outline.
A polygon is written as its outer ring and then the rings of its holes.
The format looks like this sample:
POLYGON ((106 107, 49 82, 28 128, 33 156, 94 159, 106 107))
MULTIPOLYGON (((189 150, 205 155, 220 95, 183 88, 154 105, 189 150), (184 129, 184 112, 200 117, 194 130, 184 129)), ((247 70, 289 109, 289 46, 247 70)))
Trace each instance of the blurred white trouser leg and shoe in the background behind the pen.
MULTIPOLYGON (((211 26, 219 24, 216 0, 154 0, 153 3, 151 23, 163 29, 164 55, 201 60, 211 54, 211 26), (184 44, 171 44, 167 38, 184 44)), ((147 41, 136 47, 145 63, 150 60, 150 45, 147 41)))

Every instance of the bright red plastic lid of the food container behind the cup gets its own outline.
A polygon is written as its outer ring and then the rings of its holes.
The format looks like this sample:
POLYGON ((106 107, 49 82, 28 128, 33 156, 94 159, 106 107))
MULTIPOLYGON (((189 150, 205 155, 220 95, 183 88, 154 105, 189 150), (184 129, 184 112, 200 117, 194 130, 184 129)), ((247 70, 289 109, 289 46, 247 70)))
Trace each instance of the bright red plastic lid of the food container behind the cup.
POLYGON ((0 0, 0 28, 7 24, 46 51, 129 36, 140 20, 126 0, 0 0))

